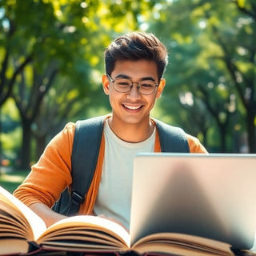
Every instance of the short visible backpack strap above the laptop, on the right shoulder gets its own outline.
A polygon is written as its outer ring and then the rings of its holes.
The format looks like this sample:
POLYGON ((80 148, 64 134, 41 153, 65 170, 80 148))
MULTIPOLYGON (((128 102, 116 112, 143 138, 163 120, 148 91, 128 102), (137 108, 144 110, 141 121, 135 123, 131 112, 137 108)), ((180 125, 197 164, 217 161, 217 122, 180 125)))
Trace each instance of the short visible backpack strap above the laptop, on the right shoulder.
POLYGON ((158 128, 162 152, 190 153, 190 146, 184 130, 156 119, 154 122, 158 128))

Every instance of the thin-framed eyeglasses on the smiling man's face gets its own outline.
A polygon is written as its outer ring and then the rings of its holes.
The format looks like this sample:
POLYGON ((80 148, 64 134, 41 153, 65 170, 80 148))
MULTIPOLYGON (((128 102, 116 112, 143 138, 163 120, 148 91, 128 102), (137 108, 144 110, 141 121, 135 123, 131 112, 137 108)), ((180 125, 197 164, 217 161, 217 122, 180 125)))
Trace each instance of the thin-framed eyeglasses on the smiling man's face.
POLYGON ((114 85, 114 90, 119 93, 128 93, 134 86, 134 83, 137 83, 137 89, 140 94, 150 95, 154 94, 155 89, 158 87, 158 84, 151 80, 143 80, 140 82, 132 82, 129 78, 115 78, 112 79, 110 75, 110 82, 114 85))

